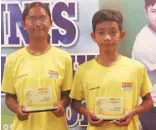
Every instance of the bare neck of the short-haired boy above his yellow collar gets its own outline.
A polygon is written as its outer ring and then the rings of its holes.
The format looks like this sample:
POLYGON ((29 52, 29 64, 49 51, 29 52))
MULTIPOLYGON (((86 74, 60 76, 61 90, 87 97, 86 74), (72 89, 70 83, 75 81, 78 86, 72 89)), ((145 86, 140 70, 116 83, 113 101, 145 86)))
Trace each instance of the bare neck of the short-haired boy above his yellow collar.
POLYGON ((120 59, 120 55, 117 51, 115 52, 104 52, 100 51, 100 54, 97 56, 96 61, 102 66, 112 66, 120 59))

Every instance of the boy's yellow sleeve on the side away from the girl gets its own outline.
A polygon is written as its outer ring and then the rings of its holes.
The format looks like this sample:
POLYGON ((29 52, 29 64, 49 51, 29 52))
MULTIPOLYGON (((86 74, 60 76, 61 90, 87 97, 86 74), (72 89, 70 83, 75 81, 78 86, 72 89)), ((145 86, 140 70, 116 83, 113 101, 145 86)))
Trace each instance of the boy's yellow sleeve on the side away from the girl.
POLYGON ((149 80, 145 67, 142 68, 142 83, 140 96, 143 97, 152 90, 152 84, 149 80))

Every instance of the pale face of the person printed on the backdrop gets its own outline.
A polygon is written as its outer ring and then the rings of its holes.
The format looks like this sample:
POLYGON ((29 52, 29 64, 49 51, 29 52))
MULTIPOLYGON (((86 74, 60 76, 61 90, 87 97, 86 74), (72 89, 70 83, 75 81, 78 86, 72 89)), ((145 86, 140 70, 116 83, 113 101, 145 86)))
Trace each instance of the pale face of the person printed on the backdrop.
POLYGON ((156 31, 156 3, 147 7, 146 14, 150 27, 156 31))

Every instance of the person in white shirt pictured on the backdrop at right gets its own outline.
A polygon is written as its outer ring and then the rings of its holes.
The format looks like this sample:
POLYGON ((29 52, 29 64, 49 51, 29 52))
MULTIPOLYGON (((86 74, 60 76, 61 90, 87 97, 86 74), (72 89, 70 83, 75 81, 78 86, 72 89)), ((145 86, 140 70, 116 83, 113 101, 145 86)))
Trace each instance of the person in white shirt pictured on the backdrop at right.
POLYGON ((145 14, 148 24, 137 34, 132 58, 145 65, 147 74, 152 83, 152 99, 154 107, 141 114, 140 120, 143 130, 156 128, 156 0, 145 0, 145 14), (150 128, 148 128, 150 127, 150 128))

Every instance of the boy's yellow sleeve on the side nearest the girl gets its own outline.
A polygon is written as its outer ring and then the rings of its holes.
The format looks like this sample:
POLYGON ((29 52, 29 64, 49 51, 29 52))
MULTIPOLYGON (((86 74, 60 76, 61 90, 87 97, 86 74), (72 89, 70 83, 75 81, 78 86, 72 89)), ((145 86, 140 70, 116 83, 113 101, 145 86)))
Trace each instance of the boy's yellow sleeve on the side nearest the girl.
POLYGON ((76 100, 82 100, 84 98, 82 78, 83 77, 82 77, 81 70, 78 67, 76 72, 75 72, 73 85, 72 85, 72 89, 71 89, 71 92, 70 92, 70 98, 76 99, 76 100))

